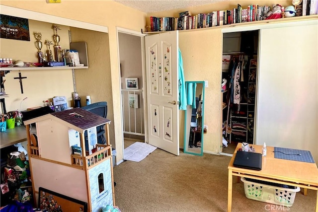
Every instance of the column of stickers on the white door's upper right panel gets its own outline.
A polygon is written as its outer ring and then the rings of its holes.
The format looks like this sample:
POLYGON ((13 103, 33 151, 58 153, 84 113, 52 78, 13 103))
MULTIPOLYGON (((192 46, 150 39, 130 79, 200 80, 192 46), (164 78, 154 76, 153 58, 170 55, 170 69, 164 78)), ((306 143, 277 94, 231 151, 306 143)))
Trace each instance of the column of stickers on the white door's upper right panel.
POLYGON ((171 66, 170 62, 171 61, 171 53, 170 49, 171 44, 162 43, 162 49, 166 49, 166 51, 162 52, 162 59, 163 59, 163 95, 168 95, 171 96, 171 66))

